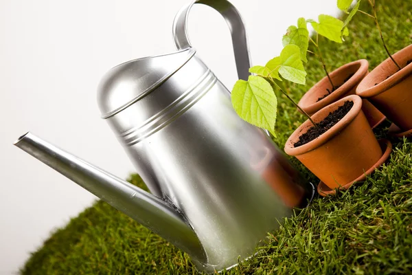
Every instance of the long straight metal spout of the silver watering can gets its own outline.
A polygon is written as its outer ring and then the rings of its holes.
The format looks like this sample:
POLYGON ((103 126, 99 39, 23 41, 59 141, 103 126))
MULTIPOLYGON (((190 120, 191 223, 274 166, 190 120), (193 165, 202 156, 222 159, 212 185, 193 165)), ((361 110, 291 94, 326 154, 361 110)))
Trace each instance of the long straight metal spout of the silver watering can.
POLYGON ((206 262, 196 233, 171 203, 62 151, 30 132, 19 137, 14 145, 174 243, 192 255, 195 261, 206 262))

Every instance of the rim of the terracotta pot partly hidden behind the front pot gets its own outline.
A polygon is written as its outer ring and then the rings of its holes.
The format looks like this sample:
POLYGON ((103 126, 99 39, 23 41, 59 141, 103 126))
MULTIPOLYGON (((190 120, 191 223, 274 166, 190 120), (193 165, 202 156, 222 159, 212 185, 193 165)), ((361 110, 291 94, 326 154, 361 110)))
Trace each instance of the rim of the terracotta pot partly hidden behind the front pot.
POLYGON ((361 83, 362 79, 367 75, 368 69, 369 69, 369 62, 366 59, 359 59, 357 61, 352 61, 350 63, 346 63, 345 65, 342 65, 341 67, 335 69, 333 72, 329 74, 331 78, 334 76, 341 74, 341 72, 347 67, 353 66, 359 64, 360 66, 354 73, 354 75, 347 80, 341 87, 336 89, 335 91, 332 91, 332 93, 323 98, 322 100, 319 100, 317 102, 312 102, 312 104, 306 104, 308 98, 312 96, 312 94, 316 93, 319 89, 319 86, 321 86, 325 82, 329 82, 328 76, 324 76, 321 80, 319 80, 316 84, 314 84, 305 94, 302 96, 301 100, 299 100, 299 107, 304 109, 307 113, 315 113, 316 111, 319 111, 323 107, 333 103, 336 101, 338 98, 341 96, 344 96, 348 91, 353 89, 358 83, 361 83))

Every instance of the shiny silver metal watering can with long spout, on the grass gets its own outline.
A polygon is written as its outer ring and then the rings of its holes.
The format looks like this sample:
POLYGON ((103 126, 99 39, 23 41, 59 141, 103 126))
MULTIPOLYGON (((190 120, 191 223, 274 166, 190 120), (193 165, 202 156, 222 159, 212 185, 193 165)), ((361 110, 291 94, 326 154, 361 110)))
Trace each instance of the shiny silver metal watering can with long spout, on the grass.
POLYGON ((244 25, 228 1, 192 1, 173 25, 178 52, 111 69, 100 84, 102 116, 150 193, 26 133, 14 145, 187 252, 198 270, 229 269, 255 254, 267 232, 313 186, 264 131, 238 117, 230 93, 195 53, 187 16, 203 3, 225 17, 238 76, 249 76, 244 25))

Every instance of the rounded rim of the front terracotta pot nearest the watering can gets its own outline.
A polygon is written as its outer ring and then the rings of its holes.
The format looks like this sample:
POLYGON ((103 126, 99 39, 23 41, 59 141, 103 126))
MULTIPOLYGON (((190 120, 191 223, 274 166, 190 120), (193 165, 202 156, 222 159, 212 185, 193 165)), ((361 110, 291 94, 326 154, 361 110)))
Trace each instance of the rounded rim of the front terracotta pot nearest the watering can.
POLYGON ((310 117, 312 118, 312 120, 314 120, 315 123, 321 122, 324 118, 326 118, 329 115, 330 112, 338 109, 338 107, 340 107, 341 104, 347 100, 354 102, 354 106, 352 106, 350 111, 347 112, 347 114, 339 122, 334 124, 334 126, 332 126, 328 131, 325 131, 325 133, 315 138, 314 140, 311 140, 310 142, 299 147, 295 147, 294 144, 299 138, 299 136, 306 133, 308 129, 312 126, 312 122, 310 122, 310 120, 306 120, 304 123, 302 123, 301 126, 299 126, 286 141, 284 147, 285 153, 288 155, 302 155, 304 153, 314 150, 315 148, 318 148, 319 146, 325 144, 329 140, 332 140, 332 138, 335 135, 341 132, 347 125, 349 125, 356 118, 356 116, 362 108, 362 99, 356 95, 346 96, 345 98, 341 98, 340 100, 326 107, 323 107, 310 117))

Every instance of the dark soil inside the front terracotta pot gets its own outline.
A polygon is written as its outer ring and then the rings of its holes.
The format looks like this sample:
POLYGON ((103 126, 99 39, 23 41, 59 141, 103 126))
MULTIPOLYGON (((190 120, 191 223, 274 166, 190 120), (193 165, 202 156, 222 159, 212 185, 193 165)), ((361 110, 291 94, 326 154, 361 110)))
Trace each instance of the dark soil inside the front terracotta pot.
POLYGON ((328 131, 334 124, 338 123, 354 106, 353 101, 345 101, 345 103, 338 107, 335 111, 329 113, 321 122, 317 123, 317 127, 312 126, 306 133, 299 136, 299 140, 294 144, 295 147, 302 146, 315 138, 319 137, 325 131, 328 131))

